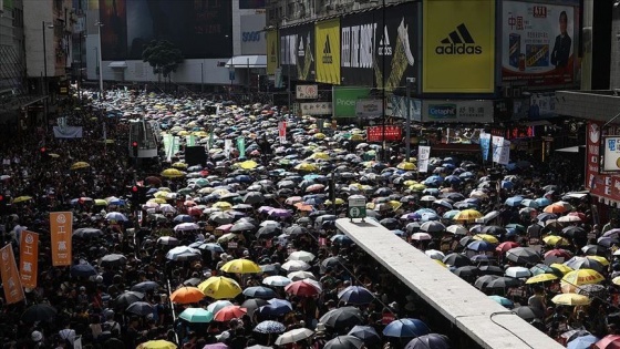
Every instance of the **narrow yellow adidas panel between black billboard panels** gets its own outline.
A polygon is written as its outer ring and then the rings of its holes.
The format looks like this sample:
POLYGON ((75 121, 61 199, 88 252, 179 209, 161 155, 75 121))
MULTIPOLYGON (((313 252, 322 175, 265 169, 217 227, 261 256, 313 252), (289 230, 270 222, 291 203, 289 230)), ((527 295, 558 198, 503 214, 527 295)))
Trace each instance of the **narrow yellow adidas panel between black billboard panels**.
POLYGON ((322 21, 314 27, 317 82, 340 84, 340 19, 322 21))

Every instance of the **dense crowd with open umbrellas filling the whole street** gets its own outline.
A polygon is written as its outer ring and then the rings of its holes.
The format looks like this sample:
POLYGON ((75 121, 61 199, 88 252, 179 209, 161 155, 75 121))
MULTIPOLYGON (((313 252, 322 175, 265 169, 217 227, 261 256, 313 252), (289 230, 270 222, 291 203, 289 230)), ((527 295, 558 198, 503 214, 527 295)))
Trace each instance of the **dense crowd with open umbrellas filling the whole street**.
POLYGON ((599 223, 561 157, 493 173, 433 157, 421 173, 404 146, 379 162, 361 129, 270 105, 123 92, 96 104, 68 105, 82 137, 1 144, 3 244, 19 259, 24 232, 40 239, 37 287, 2 294, 2 348, 461 348, 338 230, 351 195, 568 348, 620 346, 620 225, 599 223), (131 160, 136 114, 179 151, 131 160), (187 164, 188 143, 206 163, 187 164), (52 264, 50 212, 72 212, 71 266, 52 264))

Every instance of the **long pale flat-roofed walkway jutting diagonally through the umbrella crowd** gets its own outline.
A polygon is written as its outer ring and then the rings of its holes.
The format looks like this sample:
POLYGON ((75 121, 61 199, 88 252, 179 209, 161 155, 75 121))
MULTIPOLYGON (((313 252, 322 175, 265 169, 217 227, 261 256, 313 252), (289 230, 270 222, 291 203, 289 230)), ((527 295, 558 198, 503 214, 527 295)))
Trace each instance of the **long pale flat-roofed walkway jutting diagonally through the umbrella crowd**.
POLYGON ((428 314, 431 329, 454 348, 564 348, 378 222, 342 218, 335 225, 436 310, 428 314))

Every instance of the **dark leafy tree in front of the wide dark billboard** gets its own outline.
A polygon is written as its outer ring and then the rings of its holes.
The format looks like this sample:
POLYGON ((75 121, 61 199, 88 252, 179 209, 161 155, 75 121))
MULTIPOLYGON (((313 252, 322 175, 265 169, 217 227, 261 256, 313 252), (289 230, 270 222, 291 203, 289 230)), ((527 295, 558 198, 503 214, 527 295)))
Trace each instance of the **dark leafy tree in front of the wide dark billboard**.
POLYGON ((142 61, 148 62, 153 66, 153 73, 157 74, 157 81, 170 76, 180 63, 183 63, 183 53, 172 42, 167 40, 153 40, 144 45, 142 51, 142 61))

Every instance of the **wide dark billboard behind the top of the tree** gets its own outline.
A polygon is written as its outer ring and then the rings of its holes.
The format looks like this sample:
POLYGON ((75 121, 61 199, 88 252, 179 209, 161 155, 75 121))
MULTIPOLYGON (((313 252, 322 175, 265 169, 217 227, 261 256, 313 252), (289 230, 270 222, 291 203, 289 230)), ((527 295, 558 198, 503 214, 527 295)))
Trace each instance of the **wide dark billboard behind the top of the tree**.
POLYGON ((231 1, 100 0, 100 20, 103 60, 142 60, 152 40, 170 41, 186 59, 232 55, 231 1))

